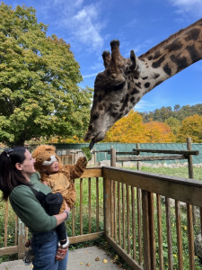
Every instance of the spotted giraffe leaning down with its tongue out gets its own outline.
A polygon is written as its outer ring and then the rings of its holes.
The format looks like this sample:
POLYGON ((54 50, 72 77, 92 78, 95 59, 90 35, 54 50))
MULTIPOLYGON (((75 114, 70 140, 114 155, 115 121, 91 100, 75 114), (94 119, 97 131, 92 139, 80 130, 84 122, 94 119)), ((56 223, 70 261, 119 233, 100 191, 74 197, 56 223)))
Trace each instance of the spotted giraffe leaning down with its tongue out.
POLYGON ((202 58, 202 19, 189 25, 145 54, 130 58, 119 52, 119 40, 110 42, 102 54, 105 70, 94 82, 91 120, 84 140, 104 139, 110 127, 127 114, 144 94, 202 58))

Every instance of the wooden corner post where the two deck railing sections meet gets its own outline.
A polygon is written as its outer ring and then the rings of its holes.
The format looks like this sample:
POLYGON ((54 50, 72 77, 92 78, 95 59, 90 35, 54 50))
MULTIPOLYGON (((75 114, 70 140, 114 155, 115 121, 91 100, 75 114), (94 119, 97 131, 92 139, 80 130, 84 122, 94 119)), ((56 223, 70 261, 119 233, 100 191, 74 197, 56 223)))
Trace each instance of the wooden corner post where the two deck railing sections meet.
POLYGON ((110 179, 103 178, 104 236, 110 236, 110 179))

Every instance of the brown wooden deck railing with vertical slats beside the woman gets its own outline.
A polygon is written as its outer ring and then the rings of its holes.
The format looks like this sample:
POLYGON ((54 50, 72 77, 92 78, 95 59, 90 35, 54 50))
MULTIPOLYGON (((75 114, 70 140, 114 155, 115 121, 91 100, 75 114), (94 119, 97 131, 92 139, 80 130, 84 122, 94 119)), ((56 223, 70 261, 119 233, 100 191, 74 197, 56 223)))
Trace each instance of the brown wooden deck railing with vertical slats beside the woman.
MULTIPOLYGON (((197 258, 194 253, 194 239, 199 231, 202 231, 200 181, 111 166, 88 168, 78 181, 80 191, 77 199, 80 202, 83 201, 83 181, 88 182, 89 227, 88 232, 83 233, 83 204, 80 203, 80 233, 75 234, 75 211, 78 211, 75 209, 72 217, 71 243, 103 235, 132 269, 195 269, 197 258), (100 231, 98 224, 102 219, 102 213, 98 198, 101 198, 99 183, 102 183, 102 179, 104 229, 100 231), (94 181, 97 201, 95 210, 92 211, 91 184, 94 181), (171 199, 174 200, 173 207, 171 199), (185 205, 181 206, 181 202, 185 202, 185 205), (192 205, 199 209, 197 224, 194 227, 192 205), (91 228, 92 214, 97 222, 95 232, 92 232, 91 228), (189 258, 188 265, 186 257, 189 258)), ((21 227, 18 229, 22 231, 21 227)), ((6 247, 6 238, 4 240, 0 255, 19 251, 22 253, 23 240, 15 243, 14 247, 6 247)))

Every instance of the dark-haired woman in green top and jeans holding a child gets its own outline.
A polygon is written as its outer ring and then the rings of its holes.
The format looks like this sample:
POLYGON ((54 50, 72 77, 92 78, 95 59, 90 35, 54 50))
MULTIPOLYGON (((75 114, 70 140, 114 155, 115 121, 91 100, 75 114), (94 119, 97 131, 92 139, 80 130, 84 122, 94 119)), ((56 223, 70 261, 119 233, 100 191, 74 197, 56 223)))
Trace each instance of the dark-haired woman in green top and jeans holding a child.
POLYGON ((31 180, 35 172, 31 153, 22 147, 4 150, 0 155, 0 190, 3 200, 8 198, 13 211, 32 233, 35 270, 66 270, 67 257, 56 261, 58 237, 55 228, 68 217, 70 209, 66 205, 64 212, 49 216, 36 199, 31 187, 48 194, 48 185, 31 180))

